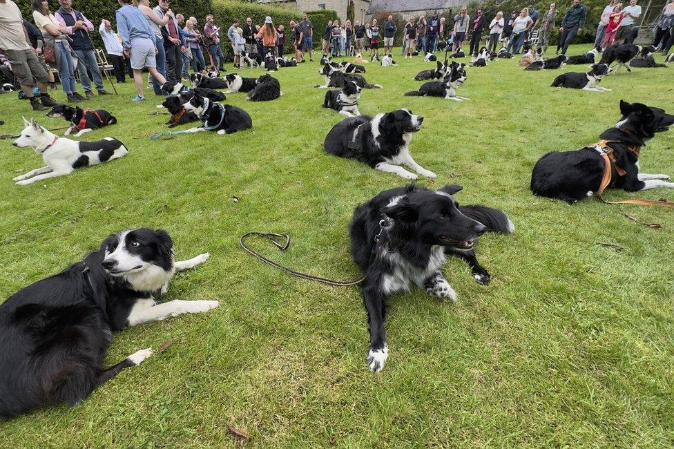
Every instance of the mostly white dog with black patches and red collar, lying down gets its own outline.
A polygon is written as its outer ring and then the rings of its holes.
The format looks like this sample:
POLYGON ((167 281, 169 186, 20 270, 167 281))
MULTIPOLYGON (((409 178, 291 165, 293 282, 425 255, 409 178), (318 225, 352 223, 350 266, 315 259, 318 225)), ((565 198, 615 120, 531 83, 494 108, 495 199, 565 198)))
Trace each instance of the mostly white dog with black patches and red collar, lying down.
POLYGON ((128 153, 126 146, 113 137, 105 137, 95 142, 78 142, 65 137, 59 138, 37 124, 35 119, 28 122, 24 118, 23 126, 25 128, 21 131, 21 135, 12 142, 12 145, 20 148, 32 146, 35 153, 42 155, 47 165, 14 178, 13 181, 21 186, 68 175, 83 166, 119 159, 128 153))

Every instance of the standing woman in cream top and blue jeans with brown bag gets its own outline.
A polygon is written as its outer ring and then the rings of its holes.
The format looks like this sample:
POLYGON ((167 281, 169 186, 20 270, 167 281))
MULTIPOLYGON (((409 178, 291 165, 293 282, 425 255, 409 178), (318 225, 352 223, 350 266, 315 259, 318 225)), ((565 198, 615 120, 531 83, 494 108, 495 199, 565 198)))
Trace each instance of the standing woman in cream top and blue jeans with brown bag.
MULTIPOLYGON (((70 48, 68 32, 65 26, 57 21, 56 17, 50 12, 46 0, 32 0, 32 19, 35 26, 42 32, 47 46, 54 46, 56 52, 56 62, 59 66, 59 77, 61 78, 61 87, 66 93, 68 103, 76 103, 85 98, 77 93, 75 85, 75 66, 73 64, 73 55, 75 52, 70 48)), ((76 57, 76 56, 75 56, 76 57)), ((10 62, 12 61, 11 58, 10 62)), ((12 67, 14 65, 12 64, 12 67)), ((32 71, 32 68, 30 68, 32 71)), ((44 70, 44 68, 42 69, 44 70)), ((32 80, 30 82, 32 84, 32 80)), ((35 108, 35 106, 34 106, 35 108)), ((39 111, 39 110, 38 110, 39 111)))

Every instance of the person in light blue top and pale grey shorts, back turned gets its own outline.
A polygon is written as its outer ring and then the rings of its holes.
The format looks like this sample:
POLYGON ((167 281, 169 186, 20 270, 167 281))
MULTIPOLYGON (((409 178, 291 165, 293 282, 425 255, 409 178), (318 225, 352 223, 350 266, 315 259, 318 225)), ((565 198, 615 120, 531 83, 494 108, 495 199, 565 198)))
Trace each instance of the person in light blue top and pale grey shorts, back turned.
POLYGON ((150 28, 148 19, 139 10, 131 6, 132 0, 117 0, 119 8, 115 17, 117 17, 117 32, 122 37, 122 46, 124 54, 131 59, 131 68, 133 68, 133 80, 136 84, 137 95, 133 102, 144 102, 143 77, 141 70, 147 68, 159 84, 166 83, 164 75, 157 71, 157 44, 154 31, 150 28))

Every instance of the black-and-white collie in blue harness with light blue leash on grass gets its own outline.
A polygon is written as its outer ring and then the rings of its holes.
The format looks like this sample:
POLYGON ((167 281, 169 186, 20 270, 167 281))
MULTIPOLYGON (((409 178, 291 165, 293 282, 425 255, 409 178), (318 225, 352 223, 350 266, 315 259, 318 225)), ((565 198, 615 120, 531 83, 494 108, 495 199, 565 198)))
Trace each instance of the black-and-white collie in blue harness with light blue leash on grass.
POLYGON ((242 108, 231 104, 211 102, 206 97, 195 94, 184 104, 186 111, 192 111, 199 117, 202 125, 186 130, 190 133, 216 131, 218 134, 233 134, 253 127, 251 116, 242 108))

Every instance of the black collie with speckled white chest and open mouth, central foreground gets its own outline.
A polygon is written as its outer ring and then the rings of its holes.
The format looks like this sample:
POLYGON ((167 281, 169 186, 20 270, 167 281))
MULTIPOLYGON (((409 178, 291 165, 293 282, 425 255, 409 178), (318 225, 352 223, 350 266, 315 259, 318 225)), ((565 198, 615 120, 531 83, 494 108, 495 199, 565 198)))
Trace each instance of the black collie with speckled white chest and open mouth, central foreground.
POLYGON ((490 274, 477 261, 474 243, 487 231, 514 231, 512 221, 498 209, 460 206, 452 196, 460 190, 457 185, 436 191, 396 187, 354 211, 349 225, 351 253, 366 275, 367 365, 372 372, 383 369, 389 353, 384 329, 389 296, 416 285, 436 298, 456 300, 442 272, 448 256, 465 260, 477 282, 487 284, 490 274))

